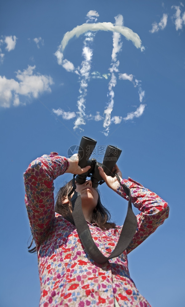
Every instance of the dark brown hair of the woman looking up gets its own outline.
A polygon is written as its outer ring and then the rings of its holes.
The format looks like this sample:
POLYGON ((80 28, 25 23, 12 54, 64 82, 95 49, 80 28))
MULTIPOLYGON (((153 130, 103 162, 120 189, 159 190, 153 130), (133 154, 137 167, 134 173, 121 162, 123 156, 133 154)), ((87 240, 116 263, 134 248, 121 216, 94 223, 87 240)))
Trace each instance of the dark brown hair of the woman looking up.
MULTIPOLYGON (((71 191, 72 187, 73 187, 73 182, 71 180, 67 182, 63 187, 60 188, 56 196, 56 203, 54 207, 54 210, 56 213, 59 213, 64 218, 67 218, 71 221, 73 221, 73 217, 71 214, 71 207, 69 206, 69 204, 62 204, 62 200, 65 199, 65 197, 68 197, 68 194, 71 191)), ((91 216, 92 223, 95 223, 102 230, 116 228, 115 223, 109 222, 111 218, 110 212, 101 203, 100 192, 97 188, 96 188, 96 191, 98 192, 98 202, 97 202, 96 208, 93 211, 93 215, 91 216)), ((71 200, 69 197, 68 199, 69 201, 71 200)), ((32 246, 32 243, 33 243, 33 239, 28 249, 30 249, 30 247, 32 246)), ((30 253, 34 253, 36 251, 37 251, 36 247, 29 250, 30 253)))

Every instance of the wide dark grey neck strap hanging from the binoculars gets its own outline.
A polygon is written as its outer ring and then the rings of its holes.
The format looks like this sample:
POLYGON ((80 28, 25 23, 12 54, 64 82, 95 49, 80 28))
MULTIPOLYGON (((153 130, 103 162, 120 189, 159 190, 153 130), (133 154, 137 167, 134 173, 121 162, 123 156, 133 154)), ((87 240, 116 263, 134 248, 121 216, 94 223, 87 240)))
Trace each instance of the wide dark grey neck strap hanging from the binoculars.
MULTIPOLYGON (((118 181, 120 182, 120 178, 117 174, 114 174, 118 181)), ((73 177, 74 180, 74 177, 73 177)), ((75 181, 74 181, 75 183, 75 181)), ((120 254, 122 254, 132 241, 136 228, 137 228, 137 218, 132 211, 132 202, 131 202, 131 192, 130 189, 126 185, 122 185, 120 182, 120 185, 124 189, 125 193, 129 196, 128 200, 128 210, 127 215, 120 233, 120 238, 118 240, 118 243, 112 251, 111 255, 108 257, 105 257, 101 251, 98 249, 96 244, 93 241, 93 238, 91 236, 91 232, 89 230, 89 226, 85 220, 82 206, 81 206, 81 194, 79 192, 74 192, 74 195, 71 199, 72 201, 72 216, 75 223, 75 226, 77 228, 77 233, 79 235, 79 238, 81 240, 81 243, 84 245, 86 251, 88 252, 89 256, 96 262, 96 263, 105 263, 109 259, 112 259, 114 257, 118 257, 120 254)), ((76 186, 76 185, 75 185, 76 186)), ((76 188, 76 187, 75 187, 76 188)), ((73 186, 73 189, 75 189, 73 186)), ((72 193, 71 193, 72 194, 72 193)))

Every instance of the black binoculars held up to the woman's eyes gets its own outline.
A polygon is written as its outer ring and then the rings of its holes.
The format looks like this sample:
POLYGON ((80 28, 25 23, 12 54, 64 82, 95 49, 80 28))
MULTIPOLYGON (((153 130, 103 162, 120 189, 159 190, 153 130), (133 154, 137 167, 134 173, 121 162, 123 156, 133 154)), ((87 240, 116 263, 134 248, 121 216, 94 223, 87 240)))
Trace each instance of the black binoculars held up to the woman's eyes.
POLYGON ((115 146, 108 145, 105 151, 103 163, 97 162, 96 159, 90 159, 91 154, 96 146, 96 141, 92 138, 83 136, 81 138, 79 150, 78 150, 78 165, 83 168, 90 165, 91 168, 84 174, 77 175, 75 180, 79 184, 83 184, 86 181, 86 177, 90 177, 92 181, 92 187, 97 188, 98 185, 104 183, 103 178, 99 174, 98 167, 101 166, 107 176, 112 174, 112 169, 115 166, 122 150, 115 146))

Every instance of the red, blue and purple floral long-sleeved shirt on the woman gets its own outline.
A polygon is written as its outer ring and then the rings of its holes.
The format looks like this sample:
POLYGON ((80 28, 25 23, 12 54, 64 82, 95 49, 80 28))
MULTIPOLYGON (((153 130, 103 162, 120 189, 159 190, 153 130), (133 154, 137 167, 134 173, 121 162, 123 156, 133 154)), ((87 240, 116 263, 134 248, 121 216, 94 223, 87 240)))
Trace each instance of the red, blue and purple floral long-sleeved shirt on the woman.
MULTIPOLYGON (((69 167, 57 153, 33 161, 24 173, 26 208, 37 246, 41 284, 40 307, 148 307, 128 271, 127 254, 142 243, 168 217, 169 207, 158 195, 131 178, 132 203, 140 210, 132 242, 119 257, 95 263, 81 244, 75 226, 54 212, 53 180, 69 167), (116 304, 117 305, 117 304, 116 304)), ((117 193, 128 199, 122 187, 117 193)), ((89 224, 94 242, 108 256, 118 242, 121 227, 103 231, 89 224)))

